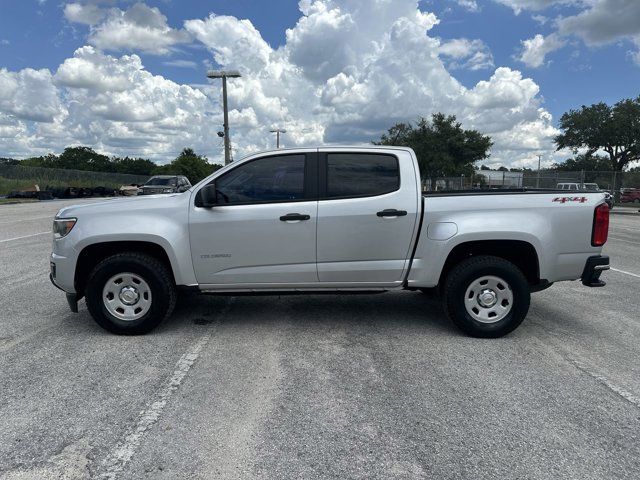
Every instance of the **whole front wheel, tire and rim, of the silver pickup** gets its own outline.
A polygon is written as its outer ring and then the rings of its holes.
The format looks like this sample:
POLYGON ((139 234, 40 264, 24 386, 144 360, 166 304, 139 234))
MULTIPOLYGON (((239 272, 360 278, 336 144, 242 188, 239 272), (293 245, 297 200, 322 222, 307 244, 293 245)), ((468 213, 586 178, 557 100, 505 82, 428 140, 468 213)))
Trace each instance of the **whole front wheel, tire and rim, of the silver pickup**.
POLYGON ((176 288, 163 262, 141 253, 120 253, 93 269, 86 301, 89 313, 105 330, 139 335, 171 315, 176 288))

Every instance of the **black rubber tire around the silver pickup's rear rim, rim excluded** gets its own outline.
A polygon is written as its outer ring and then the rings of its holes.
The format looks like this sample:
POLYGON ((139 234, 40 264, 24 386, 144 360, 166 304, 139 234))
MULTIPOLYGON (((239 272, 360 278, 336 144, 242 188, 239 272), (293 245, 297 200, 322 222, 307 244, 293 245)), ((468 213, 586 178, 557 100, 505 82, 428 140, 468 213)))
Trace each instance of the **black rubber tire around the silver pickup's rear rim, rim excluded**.
POLYGON ((530 300, 529 284, 518 267, 503 258, 483 255, 468 258, 453 267, 445 280, 442 303, 449 319, 467 335, 498 338, 522 323, 529 311, 530 300), (510 305, 509 313, 494 323, 477 320, 465 306, 467 289, 485 276, 503 279, 512 296, 511 303, 507 302, 510 305))

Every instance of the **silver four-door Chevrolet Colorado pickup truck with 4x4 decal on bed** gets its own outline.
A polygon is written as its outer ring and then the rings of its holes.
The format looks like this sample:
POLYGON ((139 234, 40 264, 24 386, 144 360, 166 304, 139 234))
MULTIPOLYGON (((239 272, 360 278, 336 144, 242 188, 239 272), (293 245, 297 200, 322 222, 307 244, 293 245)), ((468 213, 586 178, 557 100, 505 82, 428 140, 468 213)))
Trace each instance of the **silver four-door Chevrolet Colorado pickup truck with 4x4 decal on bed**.
POLYGON ((602 193, 423 195, 409 148, 277 150, 183 193, 63 208, 50 276, 72 311, 84 297, 119 334, 153 329, 181 289, 404 289, 438 294, 467 334, 500 337, 523 321, 531 292, 604 285, 608 226, 602 193))

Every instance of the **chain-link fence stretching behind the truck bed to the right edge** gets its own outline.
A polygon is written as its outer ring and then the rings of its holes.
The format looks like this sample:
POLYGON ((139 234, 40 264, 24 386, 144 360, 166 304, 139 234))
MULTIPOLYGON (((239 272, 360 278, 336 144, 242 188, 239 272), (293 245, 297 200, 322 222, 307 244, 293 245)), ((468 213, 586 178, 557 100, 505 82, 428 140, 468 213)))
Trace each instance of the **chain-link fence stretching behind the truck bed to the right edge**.
POLYGON ((640 172, 507 172, 478 170, 473 175, 427 177, 424 191, 467 190, 478 188, 564 188, 566 190, 605 190, 618 199, 627 189, 640 189, 640 172))

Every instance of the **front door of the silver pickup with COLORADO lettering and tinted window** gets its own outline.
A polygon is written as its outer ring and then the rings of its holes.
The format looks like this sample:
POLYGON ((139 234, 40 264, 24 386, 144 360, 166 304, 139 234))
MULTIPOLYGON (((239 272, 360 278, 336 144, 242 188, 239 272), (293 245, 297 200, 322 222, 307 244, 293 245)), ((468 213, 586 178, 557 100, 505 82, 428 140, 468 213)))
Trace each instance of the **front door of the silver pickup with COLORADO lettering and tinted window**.
POLYGON ((272 155, 215 179, 219 204, 192 206, 190 241, 200 285, 315 284, 316 154, 272 155))

